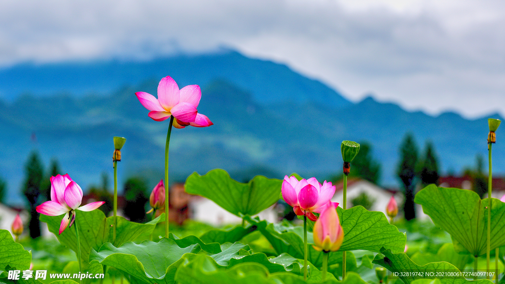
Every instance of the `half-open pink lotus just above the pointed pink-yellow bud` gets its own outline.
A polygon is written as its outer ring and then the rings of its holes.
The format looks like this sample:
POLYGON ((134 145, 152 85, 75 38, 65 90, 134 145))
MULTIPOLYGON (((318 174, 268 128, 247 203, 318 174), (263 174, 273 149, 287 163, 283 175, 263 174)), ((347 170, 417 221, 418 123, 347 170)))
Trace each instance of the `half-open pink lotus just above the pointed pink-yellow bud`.
POLYGON ((284 177, 281 188, 282 198, 293 207, 296 215, 306 215, 312 221, 317 217, 313 212, 321 213, 325 206, 336 208, 338 203, 330 202, 335 194, 335 186, 331 182, 319 183, 315 177, 298 181, 296 177, 284 177))

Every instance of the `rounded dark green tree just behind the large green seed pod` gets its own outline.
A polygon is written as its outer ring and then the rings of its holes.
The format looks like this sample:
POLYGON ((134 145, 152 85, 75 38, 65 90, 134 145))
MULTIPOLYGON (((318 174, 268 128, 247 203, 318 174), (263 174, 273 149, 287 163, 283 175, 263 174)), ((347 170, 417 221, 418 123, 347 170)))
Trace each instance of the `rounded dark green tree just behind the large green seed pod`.
POLYGON ((380 178, 380 164, 372 157, 372 146, 367 141, 360 142, 360 152, 352 160, 351 172, 375 184, 380 178))

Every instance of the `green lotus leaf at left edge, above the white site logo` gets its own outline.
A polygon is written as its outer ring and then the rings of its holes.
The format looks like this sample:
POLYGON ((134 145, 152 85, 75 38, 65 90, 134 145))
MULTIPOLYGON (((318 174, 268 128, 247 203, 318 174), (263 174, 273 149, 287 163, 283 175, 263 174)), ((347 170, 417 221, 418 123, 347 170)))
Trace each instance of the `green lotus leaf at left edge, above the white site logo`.
POLYGON ((0 270, 6 270, 6 266, 18 270, 26 270, 30 267, 31 252, 25 251, 23 246, 14 242, 8 230, 0 230, 0 270))

